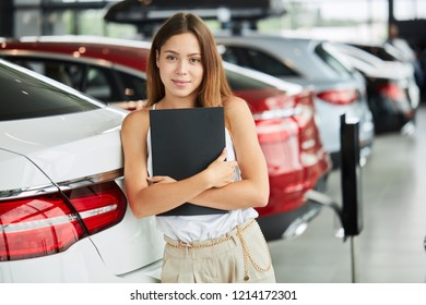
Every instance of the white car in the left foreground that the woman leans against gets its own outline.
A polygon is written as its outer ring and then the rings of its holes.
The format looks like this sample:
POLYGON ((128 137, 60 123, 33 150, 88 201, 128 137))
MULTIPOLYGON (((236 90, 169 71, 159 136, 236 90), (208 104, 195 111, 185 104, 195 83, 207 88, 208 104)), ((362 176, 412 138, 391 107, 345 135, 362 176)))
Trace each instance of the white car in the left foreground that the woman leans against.
POLYGON ((158 282, 122 190, 128 113, 0 60, 0 282, 158 282))

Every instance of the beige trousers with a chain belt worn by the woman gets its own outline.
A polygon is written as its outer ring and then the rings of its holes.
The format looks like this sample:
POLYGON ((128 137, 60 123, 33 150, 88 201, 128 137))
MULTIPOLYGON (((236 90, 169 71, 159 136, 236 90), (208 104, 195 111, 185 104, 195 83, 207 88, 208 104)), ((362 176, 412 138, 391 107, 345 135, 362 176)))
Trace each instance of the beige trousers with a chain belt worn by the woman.
POLYGON ((269 247, 255 219, 214 240, 165 241, 164 283, 275 282, 269 247))

